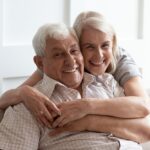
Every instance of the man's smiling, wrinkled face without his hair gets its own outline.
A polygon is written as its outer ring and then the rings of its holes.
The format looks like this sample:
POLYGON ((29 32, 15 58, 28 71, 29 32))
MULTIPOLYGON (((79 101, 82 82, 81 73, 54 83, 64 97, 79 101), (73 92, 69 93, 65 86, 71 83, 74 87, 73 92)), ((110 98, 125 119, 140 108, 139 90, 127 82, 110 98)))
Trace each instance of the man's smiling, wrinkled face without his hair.
POLYGON ((83 57, 74 37, 47 39, 43 57, 45 74, 68 87, 77 88, 82 81, 83 70, 83 57))

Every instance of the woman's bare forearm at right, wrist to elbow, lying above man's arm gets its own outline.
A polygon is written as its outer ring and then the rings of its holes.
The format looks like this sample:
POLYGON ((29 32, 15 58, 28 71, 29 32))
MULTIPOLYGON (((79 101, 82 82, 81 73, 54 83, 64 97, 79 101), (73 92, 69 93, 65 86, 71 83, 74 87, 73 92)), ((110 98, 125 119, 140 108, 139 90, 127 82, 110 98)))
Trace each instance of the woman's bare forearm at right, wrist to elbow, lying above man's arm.
POLYGON ((149 114, 146 97, 126 96, 111 99, 92 100, 89 102, 89 113, 108 115, 119 118, 141 118, 149 114))

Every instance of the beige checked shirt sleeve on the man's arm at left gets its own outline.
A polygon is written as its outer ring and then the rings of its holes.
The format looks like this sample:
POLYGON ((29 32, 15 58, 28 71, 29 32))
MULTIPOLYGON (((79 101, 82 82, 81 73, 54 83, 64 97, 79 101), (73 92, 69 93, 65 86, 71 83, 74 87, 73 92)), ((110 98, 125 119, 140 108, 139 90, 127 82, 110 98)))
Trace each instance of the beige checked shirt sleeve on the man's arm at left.
POLYGON ((9 107, 0 123, 0 149, 38 149, 40 130, 23 104, 9 107))

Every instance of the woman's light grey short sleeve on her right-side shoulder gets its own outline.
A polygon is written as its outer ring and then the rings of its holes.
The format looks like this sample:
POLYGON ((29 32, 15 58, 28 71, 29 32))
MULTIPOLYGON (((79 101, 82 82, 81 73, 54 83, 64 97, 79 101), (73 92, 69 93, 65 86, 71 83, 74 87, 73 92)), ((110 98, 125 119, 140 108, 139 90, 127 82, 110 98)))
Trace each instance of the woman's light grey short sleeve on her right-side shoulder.
POLYGON ((119 48, 117 60, 117 68, 113 75, 121 86, 132 77, 142 77, 138 65, 126 50, 119 48))

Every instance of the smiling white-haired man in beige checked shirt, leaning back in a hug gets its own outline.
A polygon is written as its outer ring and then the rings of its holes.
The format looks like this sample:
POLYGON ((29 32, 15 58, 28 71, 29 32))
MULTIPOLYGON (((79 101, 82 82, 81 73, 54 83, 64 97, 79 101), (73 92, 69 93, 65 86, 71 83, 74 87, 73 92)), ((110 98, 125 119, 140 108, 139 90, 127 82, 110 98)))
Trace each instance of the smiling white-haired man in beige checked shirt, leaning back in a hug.
MULTIPOLYGON (((88 86, 92 84, 92 78, 91 75, 85 74, 82 82, 84 72, 83 57, 73 30, 69 30, 65 25, 61 24, 44 25, 36 33, 33 46, 37 54, 34 57, 34 61, 38 68, 44 72, 43 79, 35 85, 36 89, 44 93, 56 104, 64 102, 64 100, 79 99, 83 93, 85 97, 89 96, 86 93, 90 91, 88 86), (43 47, 44 49, 41 51, 43 47), (83 89, 83 87, 87 88, 83 89)), ((118 137, 136 140, 136 135, 145 134, 143 130, 140 132, 137 130, 137 128, 143 127, 145 123, 143 119, 143 123, 139 123, 138 126, 139 120, 133 119, 126 122, 126 119, 88 115, 75 122, 78 126, 74 122, 70 124, 72 127, 76 127, 75 130, 84 132, 65 132, 59 136, 50 137, 49 132, 53 131, 53 129, 39 124, 21 103, 14 107, 9 107, 5 112, 0 123, 0 149, 117 150, 119 148, 125 149, 129 146, 131 149, 138 150, 140 146, 137 143, 116 138, 106 132, 114 133, 118 137), (98 122, 97 119, 99 120, 98 122), (124 125, 115 128, 121 122, 124 125), (137 123, 136 129, 132 128, 134 122, 137 123), (122 130, 121 127, 125 130, 122 130), (86 132, 85 130, 105 133, 86 132)), ((147 127, 147 129, 149 128, 147 127)))

